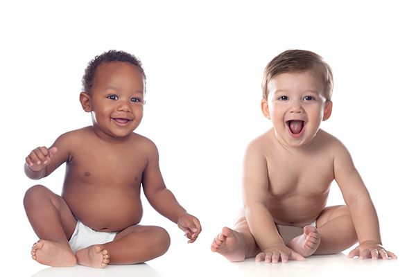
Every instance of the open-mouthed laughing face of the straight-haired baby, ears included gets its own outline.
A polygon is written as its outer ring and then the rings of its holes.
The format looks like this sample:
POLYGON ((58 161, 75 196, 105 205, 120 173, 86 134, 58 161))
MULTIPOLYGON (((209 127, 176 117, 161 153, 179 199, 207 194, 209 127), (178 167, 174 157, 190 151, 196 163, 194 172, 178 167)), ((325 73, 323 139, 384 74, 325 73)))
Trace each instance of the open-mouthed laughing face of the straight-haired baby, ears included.
POLYGON ((331 116, 332 102, 324 97, 326 84, 313 70, 282 73, 268 83, 268 99, 261 101, 275 136, 285 148, 312 143, 322 120, 331 116))

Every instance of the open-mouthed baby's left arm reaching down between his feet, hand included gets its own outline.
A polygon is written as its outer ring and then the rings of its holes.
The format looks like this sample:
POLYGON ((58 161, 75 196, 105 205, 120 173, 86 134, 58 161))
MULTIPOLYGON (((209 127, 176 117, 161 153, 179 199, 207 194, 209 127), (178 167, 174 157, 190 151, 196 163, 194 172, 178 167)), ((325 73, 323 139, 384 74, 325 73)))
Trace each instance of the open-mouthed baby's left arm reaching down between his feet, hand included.
POLYGON ((244 157, 243 202, 250 231, 261 249, 261 253, 256 257, 257 261, 304 260, 299 253, 285 246, 268 211, 267 162, 255 143, 250 143, 244 157))

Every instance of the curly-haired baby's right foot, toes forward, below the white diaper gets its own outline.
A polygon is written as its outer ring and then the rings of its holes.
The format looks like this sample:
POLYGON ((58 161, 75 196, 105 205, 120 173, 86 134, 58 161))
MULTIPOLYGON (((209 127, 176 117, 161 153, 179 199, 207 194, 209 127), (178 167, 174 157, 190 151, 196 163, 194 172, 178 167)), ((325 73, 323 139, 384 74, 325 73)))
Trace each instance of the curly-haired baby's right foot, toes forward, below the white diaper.
POLYGON ((85 265, 86 267, 107 267, 110 262, 110 254, 103 245, 92 245, 85 249, 76 251, 75 253, 78 265, 85 265))

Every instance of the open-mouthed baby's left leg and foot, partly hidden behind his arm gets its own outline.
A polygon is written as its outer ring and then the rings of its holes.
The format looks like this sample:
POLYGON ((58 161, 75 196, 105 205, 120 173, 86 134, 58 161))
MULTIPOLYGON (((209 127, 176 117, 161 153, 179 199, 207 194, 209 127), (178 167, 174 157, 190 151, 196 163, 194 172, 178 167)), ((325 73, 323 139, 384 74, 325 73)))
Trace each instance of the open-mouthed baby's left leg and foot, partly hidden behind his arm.
POLYGON ((223 232, 214 238, 211 251, 220 253, 230 262, 241 262, 260 252, 245 219, 244 209, 241 209, 234 229, 224 227, 223 232))

